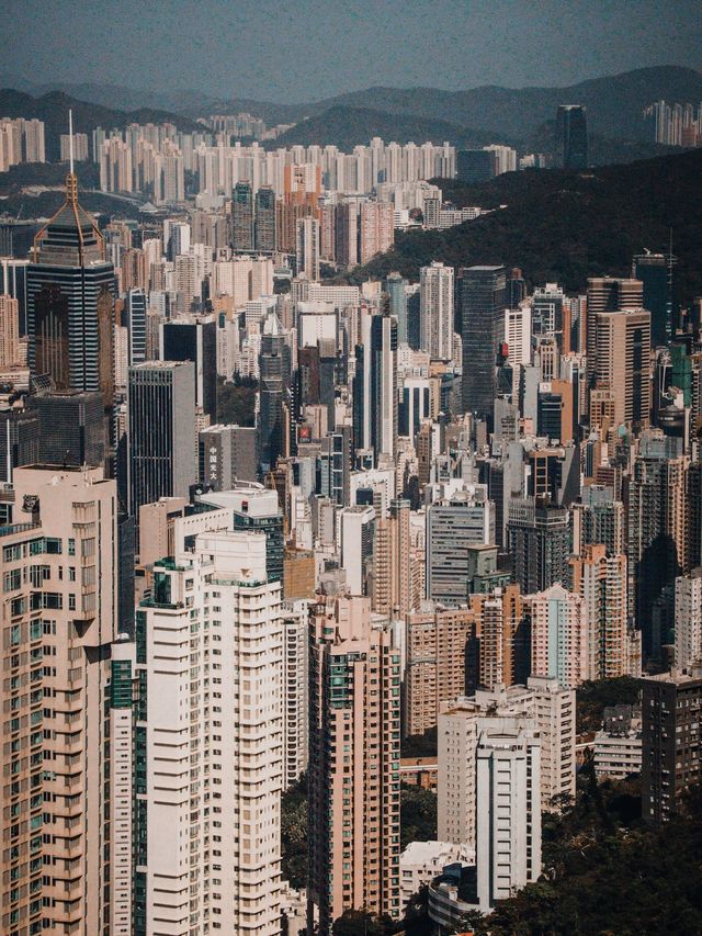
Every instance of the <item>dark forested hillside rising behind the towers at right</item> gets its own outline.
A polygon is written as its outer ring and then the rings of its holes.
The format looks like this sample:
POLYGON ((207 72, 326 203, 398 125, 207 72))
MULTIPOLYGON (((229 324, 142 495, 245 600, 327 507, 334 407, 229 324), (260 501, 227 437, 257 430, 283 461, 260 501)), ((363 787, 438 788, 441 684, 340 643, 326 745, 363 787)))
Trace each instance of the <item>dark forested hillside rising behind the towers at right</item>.
POLYGON ((348 280, 398 270, 419 279, 432 260, 453 267, 521 267, 533 283, 584 290, 588 277, 626 275, 644 248, 668 249, 672 232, 681 300, 702 295, 702 149, 582 172, 526 170, 482 185, 439 181, 456 205, 496 208, 442 232, 397 234, 395 249, 348 280), (500 205, 506 207, 500 208, 500 205))

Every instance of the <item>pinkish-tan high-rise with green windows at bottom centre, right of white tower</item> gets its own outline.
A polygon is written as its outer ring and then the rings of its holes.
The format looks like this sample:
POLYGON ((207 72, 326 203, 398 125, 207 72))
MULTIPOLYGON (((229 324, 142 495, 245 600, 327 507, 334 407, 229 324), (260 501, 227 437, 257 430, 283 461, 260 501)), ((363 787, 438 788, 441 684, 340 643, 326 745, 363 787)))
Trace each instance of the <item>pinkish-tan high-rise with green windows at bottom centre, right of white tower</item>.
POLYGON ((320 597, 309 647, 308 921, 399 916, 399 652, 367 598, 320 597))

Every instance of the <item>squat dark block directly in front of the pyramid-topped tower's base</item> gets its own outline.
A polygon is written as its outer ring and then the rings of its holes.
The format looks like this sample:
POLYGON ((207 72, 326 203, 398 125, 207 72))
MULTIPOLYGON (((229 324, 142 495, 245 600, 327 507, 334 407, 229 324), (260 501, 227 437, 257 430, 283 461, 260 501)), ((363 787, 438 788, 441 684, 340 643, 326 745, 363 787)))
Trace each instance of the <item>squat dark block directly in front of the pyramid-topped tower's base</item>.
POLYGON ((39 461, 48 465, 104 465, 104 406, 99 393, 38 394, 39 461))

